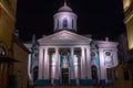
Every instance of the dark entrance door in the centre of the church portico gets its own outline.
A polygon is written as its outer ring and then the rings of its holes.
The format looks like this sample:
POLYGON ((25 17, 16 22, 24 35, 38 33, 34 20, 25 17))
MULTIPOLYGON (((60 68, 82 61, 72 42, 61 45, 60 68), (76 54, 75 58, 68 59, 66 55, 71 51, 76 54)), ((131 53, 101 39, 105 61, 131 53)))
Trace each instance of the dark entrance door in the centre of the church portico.
POLYGON ((69 68, 62 68, 62 84, 69 84, 69 68))

